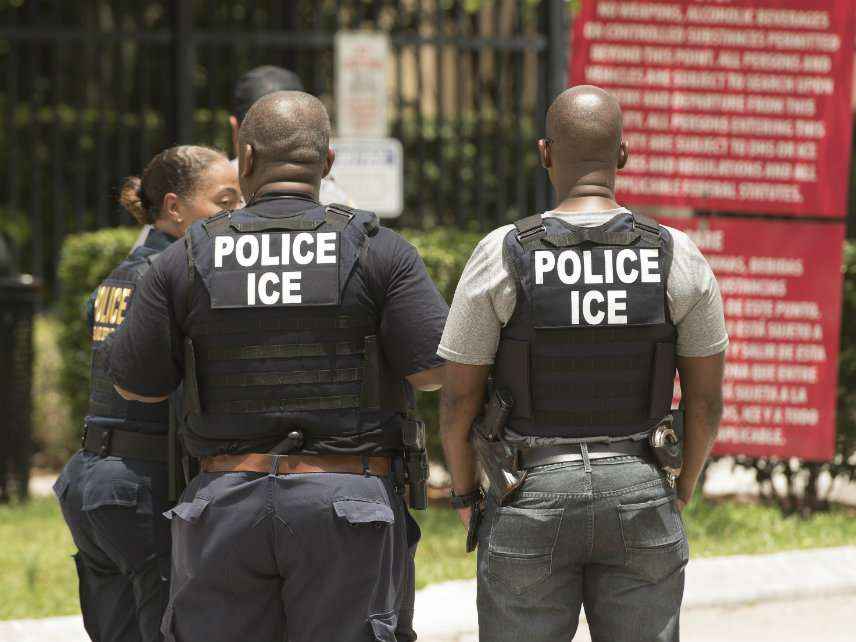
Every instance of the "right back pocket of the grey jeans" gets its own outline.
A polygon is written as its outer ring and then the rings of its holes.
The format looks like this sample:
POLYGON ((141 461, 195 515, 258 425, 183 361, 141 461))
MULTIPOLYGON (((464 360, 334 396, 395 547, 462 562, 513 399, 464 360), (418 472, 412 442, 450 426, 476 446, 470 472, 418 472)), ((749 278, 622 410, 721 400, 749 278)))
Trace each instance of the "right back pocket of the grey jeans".
POLYGON ((657 584, 686 566, 689 549, 681 517, 671 495, 618 506, 624 565, 657 584))

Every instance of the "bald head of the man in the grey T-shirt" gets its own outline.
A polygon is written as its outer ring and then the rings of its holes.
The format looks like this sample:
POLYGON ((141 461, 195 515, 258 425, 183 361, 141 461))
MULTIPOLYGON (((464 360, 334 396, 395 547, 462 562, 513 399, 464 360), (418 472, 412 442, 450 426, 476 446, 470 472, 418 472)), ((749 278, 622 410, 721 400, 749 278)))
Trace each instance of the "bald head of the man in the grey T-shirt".
POLYGON ((602 162, 618 165, 621 107, 599 87, 580 85, 563 91, 547 111, 547 137, 554 162, 602 162))

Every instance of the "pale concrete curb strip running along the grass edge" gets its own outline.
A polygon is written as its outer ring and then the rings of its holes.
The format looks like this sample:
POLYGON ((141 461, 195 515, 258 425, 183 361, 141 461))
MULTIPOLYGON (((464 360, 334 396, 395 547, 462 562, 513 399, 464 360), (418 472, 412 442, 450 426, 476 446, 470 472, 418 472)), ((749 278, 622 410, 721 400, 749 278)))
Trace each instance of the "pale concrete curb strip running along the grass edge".
MULTIPOLYGON (((688 611, 856 595, 856 546, 693 560, 688 611)), ((476 642, 475 580, 444 582, 416 595, 422 642, 476 642)), ((86 642, 80 617, 0 622, 0 642, 86 642)))

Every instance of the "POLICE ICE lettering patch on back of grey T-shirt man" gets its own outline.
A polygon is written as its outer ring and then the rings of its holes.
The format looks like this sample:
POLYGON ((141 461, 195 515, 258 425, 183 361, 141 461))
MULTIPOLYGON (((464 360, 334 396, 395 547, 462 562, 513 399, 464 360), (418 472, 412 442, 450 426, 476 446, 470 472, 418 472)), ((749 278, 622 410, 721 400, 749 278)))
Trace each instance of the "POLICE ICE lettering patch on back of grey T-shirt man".
POLYGON ((662 293, 659 254, 656 248, 535 250, 534 304, 539 325, 653 322, 631 315, 630 306, 635 304, 637 312, 643 313, 656 308, 650 303, 662 293))

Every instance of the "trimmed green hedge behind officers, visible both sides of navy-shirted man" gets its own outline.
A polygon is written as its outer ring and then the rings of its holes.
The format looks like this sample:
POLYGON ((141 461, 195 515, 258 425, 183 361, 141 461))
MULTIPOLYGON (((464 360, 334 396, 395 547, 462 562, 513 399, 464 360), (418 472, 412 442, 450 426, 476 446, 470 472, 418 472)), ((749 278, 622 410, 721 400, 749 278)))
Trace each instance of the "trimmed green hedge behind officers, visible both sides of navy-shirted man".
MULTIPOLYGON (((137 228, 118 227, 69 236, 59 264, 60 296, 57 303, 59 346, 62 352, 60 386, 79 434, 89 397, 89 336, 85 304, 90 293, 127 255, 139 234, 137 228)), ((451 301, 455 284, 480 235, 449 229, 430 232, 404 230, 419 250, 440 292, 451 301)), ((430 426, 432 452, 439 453, 437 394, 419 395, 419 412, 430 426)))

